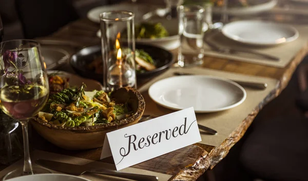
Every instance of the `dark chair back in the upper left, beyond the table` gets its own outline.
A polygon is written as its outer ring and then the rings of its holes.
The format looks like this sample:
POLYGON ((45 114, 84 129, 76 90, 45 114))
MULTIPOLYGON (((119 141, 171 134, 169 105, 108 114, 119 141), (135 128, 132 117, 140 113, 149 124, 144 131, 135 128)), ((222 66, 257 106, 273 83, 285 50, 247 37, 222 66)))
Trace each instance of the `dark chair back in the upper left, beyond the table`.
POLYGON ((15 0, 25 38, 47 36, 79 18, 69 0, 15 0))

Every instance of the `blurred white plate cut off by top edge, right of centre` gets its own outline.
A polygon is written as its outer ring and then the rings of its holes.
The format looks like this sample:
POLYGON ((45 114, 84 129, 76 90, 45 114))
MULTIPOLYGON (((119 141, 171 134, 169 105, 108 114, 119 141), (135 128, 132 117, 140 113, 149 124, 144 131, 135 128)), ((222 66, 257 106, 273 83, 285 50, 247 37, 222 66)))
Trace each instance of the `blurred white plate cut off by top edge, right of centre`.
MULTIPOLYGON (((247 7, 229 7, 227 8, 227 13, 235 16, 261 13, 273 9, 277 5, 278 0, 247 0, 247 2, 251 5, 247 7)), ((213 12, 215 14, 222 13, 222 8, 214 7, 213 12)))

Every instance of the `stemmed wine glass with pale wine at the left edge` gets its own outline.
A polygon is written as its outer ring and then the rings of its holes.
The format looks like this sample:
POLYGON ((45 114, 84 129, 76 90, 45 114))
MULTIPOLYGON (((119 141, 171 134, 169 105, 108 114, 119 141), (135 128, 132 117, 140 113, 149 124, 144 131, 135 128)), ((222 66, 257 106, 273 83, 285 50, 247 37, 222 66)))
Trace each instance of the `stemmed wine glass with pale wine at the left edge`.
POLYGON ((29 119, 43 108, 49 95, 40 45, 27 39, 2 42, 0 54, 0 107, 21 123, 24 137, 24 168, 8 173, 3 180, 50 173, 45 169, 32 169, 28 142, 29 119))

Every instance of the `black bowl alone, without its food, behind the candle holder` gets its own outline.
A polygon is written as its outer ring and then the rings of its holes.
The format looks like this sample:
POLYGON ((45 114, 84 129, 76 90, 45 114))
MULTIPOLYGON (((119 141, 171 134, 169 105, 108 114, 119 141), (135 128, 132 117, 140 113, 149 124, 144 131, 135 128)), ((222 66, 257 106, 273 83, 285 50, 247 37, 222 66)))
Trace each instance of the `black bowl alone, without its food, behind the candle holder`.
MULTIPOLYGON (((172 54, 165 49, 145 44, 136 44, 136 49, 143 49, 147 52, 153 58, 157 67, 155 70, 137 73, 137 77, 139 78, 159 73, 174 63, 172 54)), ((79 50, 70 57, 69 62, 74 71, 79 75, 102 82, 103 73, 98 74, 94 70, 88 69, 88 65, 100 56, 102 56, 101 45, 95 45, 79 50)))

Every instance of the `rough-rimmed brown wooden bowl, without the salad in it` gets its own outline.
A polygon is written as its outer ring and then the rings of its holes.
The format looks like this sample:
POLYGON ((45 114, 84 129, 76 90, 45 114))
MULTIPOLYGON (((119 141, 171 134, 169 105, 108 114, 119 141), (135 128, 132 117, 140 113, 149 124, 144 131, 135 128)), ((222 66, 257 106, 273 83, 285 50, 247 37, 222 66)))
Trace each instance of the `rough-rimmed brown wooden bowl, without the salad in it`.
POLYGON ((61 127, 46 123, 39 117, 30 123, 33 128, 52 144, 66 150, 85 150, 102 147, 107 132, 138 123, 145 109, 144 98, 132 88, 120 88, 112 92, 117 103, 128 102, 134 114, 128 118, 94 126, 61 127))

